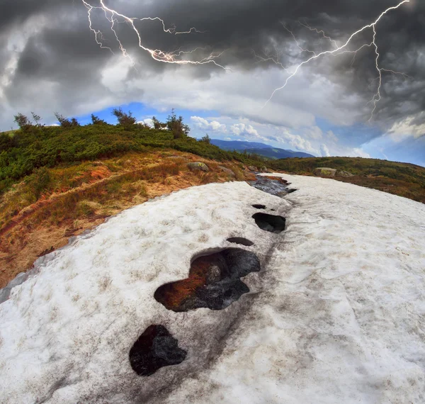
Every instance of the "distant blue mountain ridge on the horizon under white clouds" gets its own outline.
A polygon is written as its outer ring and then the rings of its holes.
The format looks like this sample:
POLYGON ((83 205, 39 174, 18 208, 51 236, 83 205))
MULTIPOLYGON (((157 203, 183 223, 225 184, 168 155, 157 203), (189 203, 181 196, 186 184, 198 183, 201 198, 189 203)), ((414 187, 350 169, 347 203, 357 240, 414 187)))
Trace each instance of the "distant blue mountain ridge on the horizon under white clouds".
POLYGON ((212 145, 220 147, 222 150, 236 150, 237 152, 247 152, 250 154, 261 155, 269 159, 288 159, 290 157, 315 157, 303 152, 294 152, 293 150, 279 149, 271 145, 259 142, 241 142, 238 140, 219 140, 211 139, 212 145))

